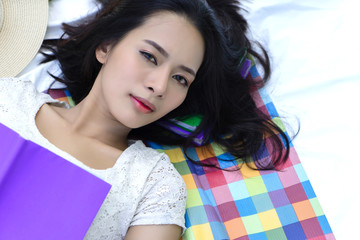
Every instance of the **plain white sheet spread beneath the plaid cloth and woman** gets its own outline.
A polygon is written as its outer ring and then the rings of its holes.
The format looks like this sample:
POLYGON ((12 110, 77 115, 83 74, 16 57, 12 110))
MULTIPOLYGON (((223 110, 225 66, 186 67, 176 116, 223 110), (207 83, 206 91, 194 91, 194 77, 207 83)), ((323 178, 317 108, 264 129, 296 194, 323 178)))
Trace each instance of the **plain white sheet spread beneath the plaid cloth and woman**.
MULTIPOLYGON (((280 115, 301 130, 300 160, 337 239, 357 239, 360 190, 360 17, 350 0, 244 1, 252 35, 270 51, 267 89, 280 115)), ((46 37, 96 9, 94 0, 53 0, 46 37)), ((29 78, 39 58, 23 71, 29 78)), ((45 72, 43 72, 44 74, 45 72)), ((39 86, 39 89, 46 85, 39 86)))

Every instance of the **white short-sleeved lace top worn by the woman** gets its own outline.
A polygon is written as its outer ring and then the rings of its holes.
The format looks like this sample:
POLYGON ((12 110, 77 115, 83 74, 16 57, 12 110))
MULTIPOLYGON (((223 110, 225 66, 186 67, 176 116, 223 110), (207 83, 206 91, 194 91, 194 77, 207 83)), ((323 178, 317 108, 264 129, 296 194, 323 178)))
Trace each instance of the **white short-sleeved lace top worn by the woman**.
POLYGON ((0 123, 112 185, 85 239, 123 239, 134 225, 176 224, 185 228, 185 183, 165 154, 136 141, 112 168, 92 169, 38 131, 35 116, 44 103, 69 107, 37 92, 30 81, 0 79, 0 123))

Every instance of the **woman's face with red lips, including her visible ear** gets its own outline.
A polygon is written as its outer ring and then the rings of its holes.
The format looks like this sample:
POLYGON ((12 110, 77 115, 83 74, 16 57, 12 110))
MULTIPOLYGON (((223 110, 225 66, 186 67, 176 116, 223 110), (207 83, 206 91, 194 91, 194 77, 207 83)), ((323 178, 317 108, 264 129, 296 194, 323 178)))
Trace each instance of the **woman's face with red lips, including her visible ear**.
POLYGON ((97 49, 102 107, 129 128, 156 121, 184 101, 204 49, 201 34, 184 17, 150 17, 113 47, 97 49))

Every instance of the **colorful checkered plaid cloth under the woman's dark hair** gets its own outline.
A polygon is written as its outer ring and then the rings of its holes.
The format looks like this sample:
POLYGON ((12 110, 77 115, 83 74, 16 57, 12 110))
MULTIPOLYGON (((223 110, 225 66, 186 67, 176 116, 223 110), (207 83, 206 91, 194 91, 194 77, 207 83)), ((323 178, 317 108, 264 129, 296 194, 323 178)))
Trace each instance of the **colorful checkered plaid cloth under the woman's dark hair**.
MULTIPOLYGON (((254 63, 247 77, 260 79, 254 63)), ((49 93, 71 103, 66 91, 49 93)), ((255 91, 253 97, 258 108, 284 129, 266 91, 255 91)), ((256 171, 244 164, 240 171, 228 172, 193 164, 178 146, 148 145, 165 152, 186 183, 187 230, 183 240, 335 239, 293 146, 281 171, 256 171)), ((233 157, 214 143, 187 153, 193 160, 222 169, 237 164, 220 160, 233 157)), ((256 163, 252 165, 256 167, 256 163)))

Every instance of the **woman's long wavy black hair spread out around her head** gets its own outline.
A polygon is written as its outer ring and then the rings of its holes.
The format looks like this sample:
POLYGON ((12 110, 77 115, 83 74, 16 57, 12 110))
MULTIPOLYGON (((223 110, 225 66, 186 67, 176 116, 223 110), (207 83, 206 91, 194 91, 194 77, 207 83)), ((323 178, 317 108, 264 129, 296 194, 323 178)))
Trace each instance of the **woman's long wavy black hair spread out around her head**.
MULTIPOLYGON (((286 161, 290 140, 271 118, 263 114, 251 97, 270 75, 266 51, 247 37, 247 21, 240 14, 237 0, 99 0, 102 8, 94 19, 78 25, 63 24, 60 40, 44 42, 51 51, 46 61, 59 60, 62 76, 54 76, 67 85, 75 103, 84 99, 100 71, 95 57, 103 43, 116 43, 128 32, 141 26, 147 18, 168 11, 186 17, 205 41, 204 60, 191 84, 185 101, 160 121, 200 115, 202 120, 188 137, 164 130, 157 122, 133 129, 129 138, 182 145, 186 149, 193 138, 203 135, 204 144, 214 141, 236 158, 261 155, 265 136, 273 149, 272 161, 261 166, 272 169, 286 161), (239 61, 252 55, 264 70, 263 81, 243 78, 239 61)), ((211 164, 210 164, 211 165, 211 164)))

